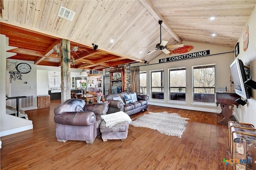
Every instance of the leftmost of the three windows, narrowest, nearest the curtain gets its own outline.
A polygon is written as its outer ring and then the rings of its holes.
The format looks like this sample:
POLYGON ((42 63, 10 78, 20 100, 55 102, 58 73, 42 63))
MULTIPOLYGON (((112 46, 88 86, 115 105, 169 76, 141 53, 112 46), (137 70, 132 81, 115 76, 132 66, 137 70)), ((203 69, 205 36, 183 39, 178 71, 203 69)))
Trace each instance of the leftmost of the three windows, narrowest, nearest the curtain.
POLYGON ((150 71, 152 99, 164 99, 164 70, 150 71))

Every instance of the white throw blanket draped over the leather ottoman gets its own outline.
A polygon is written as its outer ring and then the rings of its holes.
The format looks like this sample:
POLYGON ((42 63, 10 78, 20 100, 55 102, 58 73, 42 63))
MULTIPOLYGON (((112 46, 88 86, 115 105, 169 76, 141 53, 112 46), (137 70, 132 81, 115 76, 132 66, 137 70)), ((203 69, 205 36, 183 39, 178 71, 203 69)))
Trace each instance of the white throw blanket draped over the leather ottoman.
POLYGON ((111 113, 108 115, 101 115, 100 116, 105 122, 106 127, 111 128, 117 123, 128 121, 129 123, 132 123, 132 119, 123 111, 111 113))

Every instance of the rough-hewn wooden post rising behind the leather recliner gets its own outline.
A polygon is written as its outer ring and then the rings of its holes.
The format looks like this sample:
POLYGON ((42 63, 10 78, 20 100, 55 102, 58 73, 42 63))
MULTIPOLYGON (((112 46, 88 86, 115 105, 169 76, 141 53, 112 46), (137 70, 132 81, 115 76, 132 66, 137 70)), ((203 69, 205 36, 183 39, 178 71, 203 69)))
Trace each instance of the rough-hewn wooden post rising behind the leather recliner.
POLYGON ((70 40, 61 40, 61 103, 70 99, 70 40))

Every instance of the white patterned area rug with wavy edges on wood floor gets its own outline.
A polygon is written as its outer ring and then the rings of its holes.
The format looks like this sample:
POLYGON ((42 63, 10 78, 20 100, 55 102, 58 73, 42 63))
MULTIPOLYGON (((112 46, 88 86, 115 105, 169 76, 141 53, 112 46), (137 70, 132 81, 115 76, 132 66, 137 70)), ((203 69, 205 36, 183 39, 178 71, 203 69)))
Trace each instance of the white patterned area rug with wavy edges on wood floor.
POLYGON ((188 123, 188 118, 180 117, 177 113, 152 113, 139 117, 136 121, 130 123, 135 127, 146 127, 158 130, 162 134, 169 136, 177 136, 181 138, 186 130, 185 125, 188 123))

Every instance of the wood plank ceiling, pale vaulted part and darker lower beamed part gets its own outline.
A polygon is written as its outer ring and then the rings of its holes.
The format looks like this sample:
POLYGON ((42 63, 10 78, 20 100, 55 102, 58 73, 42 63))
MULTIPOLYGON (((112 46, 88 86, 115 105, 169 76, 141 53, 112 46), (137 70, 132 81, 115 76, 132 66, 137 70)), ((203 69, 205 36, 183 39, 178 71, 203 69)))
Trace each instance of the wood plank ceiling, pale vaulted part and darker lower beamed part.
POLYGON ((255 0, 1 0, 0 33, 9 37, 12 59, 60 66, 60 57, 46 55, 61 39, 71 41, 71 68, 102 70, 123 63, 151 61, 162 40, 234 47, 256 4, 255 0), (60 6, 76 14, 58 16, 60 6), (210 21, 208 17, 217 20, 210 21), (211 37, 210 34, 217 34, 211 37), (114 43, 110 43, 114 39, 114 43), (98 45, 94 50, 92 43, 98 45), (78 51, 72 50, 78 47, 78 51), (142 52, 140 52, 142 51, 142 52), (83 62, 85 62, 83 64, 83 62))

